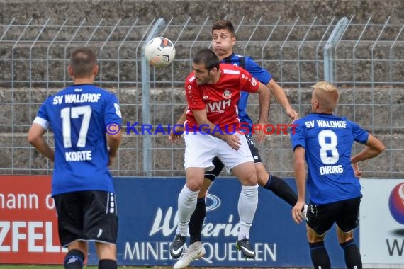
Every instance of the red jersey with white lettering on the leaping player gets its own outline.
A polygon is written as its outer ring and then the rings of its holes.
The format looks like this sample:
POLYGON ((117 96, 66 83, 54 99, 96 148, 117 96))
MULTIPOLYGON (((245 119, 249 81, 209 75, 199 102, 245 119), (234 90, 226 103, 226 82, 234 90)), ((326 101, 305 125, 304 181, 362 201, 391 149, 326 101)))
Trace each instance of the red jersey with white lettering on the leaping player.
POLYGON ((189 110, 186 113, 186 125, 190 130, 199 126, 192 110, 206 110, 208 120, 221 130, 228 132, 240 130, 237 103, 240 91, 250 93, 258 91, 259 83, 248 71, 231 64, 220 64, 220 79, 215 84, 198 85, 191 72, 186 77, 185 92, 189 110))

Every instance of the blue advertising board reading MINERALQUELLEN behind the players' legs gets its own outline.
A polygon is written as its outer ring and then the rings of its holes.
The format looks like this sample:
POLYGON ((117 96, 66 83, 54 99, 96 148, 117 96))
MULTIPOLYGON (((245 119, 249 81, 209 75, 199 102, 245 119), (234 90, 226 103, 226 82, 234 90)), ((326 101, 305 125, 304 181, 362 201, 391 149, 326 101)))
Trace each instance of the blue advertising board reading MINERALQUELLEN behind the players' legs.
MULTIPOLYGON (((295 188, 294 180, 287 183, 295 188)), ((118 199, 118 265, 172 266, 169 244, 176 231, 177 198, 184 178, 115 178, 118 199)), ((250 232, 256 251, 246 260, 235 248, 238 233, 237 202, 240 183, 236 178, 217 178, 206 198, 203 226, 204 258, 193 266, 311 267, 305 224, 295 224, 291 206, 269 190, 259 188, 259 205, 250 232)), ((332 268, 344 268, 342 248, 335 230, 326 246, 332 268)), ((89 264, 96 264, 94 248, 89 264)))

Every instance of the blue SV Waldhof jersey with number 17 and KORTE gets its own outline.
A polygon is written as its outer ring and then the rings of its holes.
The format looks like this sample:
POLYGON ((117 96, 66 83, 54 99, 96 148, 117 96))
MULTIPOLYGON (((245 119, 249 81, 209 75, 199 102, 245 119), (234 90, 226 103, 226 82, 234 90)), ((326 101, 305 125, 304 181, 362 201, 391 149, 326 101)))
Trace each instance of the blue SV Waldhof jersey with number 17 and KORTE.
POLYGON ((116 96, 92 84, 73 85, 47 98, 34 120, 55 135, 52 195, 80 190, 113 193, 106 124, 122 119, 116 96))

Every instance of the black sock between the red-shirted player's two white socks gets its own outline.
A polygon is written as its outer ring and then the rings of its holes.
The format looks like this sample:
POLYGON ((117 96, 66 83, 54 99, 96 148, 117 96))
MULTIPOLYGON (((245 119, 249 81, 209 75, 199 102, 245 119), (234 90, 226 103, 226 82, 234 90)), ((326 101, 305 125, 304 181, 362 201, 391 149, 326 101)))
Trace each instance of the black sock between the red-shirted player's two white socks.
POLYGON ((205 198, 198 198, 196 208, 193 211, 191 219, 189 219, 189 244, 202 241, 202 225, 206 217, 206 202, 205 198))

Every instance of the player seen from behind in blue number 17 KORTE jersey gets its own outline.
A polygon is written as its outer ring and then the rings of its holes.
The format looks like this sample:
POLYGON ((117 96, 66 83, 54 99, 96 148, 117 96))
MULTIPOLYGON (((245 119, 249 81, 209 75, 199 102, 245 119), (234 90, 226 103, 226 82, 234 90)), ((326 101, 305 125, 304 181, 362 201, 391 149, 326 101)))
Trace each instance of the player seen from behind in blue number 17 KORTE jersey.
POLYGON ((120 145, 122 116, 116 96, 93 85, 99 66, 91 48, 73 50, 67 69, 74 84, 40 106, 28 141, 55 162, 52 197, 60 243, 68 249, 64 268, 83 268, 87 242, 94 241, 99 268, 113 269, 118 217, 108 165, 120 145), (43 137, 49 127, 55 151, 43 137))

